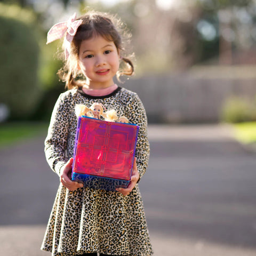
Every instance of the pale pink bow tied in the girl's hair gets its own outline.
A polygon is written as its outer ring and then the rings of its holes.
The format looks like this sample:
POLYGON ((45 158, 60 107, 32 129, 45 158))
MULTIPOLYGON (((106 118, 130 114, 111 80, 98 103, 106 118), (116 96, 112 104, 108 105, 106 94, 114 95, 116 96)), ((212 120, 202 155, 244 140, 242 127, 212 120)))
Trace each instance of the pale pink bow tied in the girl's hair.
POLYGON ((70 44, 76 34, 77 28, 82 24, 83 20, 76 20, 76 13, 74 13, 67 22, 60 22, 51 27, 47 33, 47 42, 49 44, 57 39, 63 37, 65 45, 65 58, 67 59, 70 52, 70 44))

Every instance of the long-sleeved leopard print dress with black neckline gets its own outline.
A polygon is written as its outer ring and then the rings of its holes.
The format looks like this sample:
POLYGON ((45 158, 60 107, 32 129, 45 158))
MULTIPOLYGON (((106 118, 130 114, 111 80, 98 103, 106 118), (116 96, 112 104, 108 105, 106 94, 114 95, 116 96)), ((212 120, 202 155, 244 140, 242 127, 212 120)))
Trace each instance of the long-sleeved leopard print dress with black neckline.
MULTIPOLYGON (((147 117, 138 95, 122 87, 103 97, 93 97, 79 89, 60 94, 45 140, 51 169, 59 175, 63 164, 73 157, 75 105, 91 106, 93 102, 102 103, 107 110, 115 109, 118 116, 124 115, 130 123, 140 126, 135 157, 141 178, 149 158, 147 117)), ((123 196, 86 187, 69 191, 60 183, 41 250, 59 256, 90 252, 153 255, 138 184, 128 196, 123 196)))

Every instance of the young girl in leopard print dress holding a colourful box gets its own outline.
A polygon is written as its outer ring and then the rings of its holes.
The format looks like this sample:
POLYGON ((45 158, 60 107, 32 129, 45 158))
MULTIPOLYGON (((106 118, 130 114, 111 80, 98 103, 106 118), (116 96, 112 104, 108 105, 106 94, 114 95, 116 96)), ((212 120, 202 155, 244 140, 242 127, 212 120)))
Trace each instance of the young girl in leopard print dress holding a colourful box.
POLYGON ((50 29, 47 43, 65 36, 66 65, 62 78, 68 91, 60 94, 45 140, 45 155, 60 177, 42 250, 52 255, 152 255, 138 182, 149 158, 147 117, 134 92, 117 86, 113 77, 132 75, 115 19, 86 13, 50 29), (119 68, 122 65, 123 69, 119 68), (81 79, 81 77, 84 79, 81 79), (70 180, 77 117, 75 106, 102 104, 140 126, 132 178, 127 188, 94 190, 70 180))

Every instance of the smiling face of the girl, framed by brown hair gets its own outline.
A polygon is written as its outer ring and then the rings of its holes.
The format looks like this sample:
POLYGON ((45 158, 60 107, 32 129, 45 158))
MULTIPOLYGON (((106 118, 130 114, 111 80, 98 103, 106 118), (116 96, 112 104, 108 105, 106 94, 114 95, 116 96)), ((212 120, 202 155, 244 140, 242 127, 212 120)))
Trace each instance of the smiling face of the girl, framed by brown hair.
POLYGON ((84 40, 79 49, 77 67, 88 79, 90 89, 113 85, 113 77, 119 69, 119 53, 114 42, 102 36, 84 40))

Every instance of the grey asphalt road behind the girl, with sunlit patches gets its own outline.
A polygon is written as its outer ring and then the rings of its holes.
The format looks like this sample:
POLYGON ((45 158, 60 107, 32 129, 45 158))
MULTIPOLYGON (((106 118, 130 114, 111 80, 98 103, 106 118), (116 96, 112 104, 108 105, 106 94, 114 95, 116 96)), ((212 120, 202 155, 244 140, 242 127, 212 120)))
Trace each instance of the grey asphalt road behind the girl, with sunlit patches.
MULTIPOLYGON (((224 126, 150 126, 140 189, 156 256, 256 255, 256 153, 224 126)), ((0 254, 39 251, 58 177, 43 140, 0 149, 0 254)))

